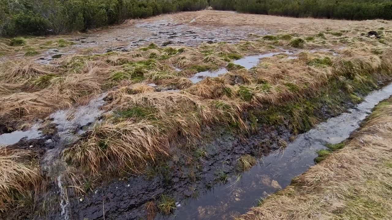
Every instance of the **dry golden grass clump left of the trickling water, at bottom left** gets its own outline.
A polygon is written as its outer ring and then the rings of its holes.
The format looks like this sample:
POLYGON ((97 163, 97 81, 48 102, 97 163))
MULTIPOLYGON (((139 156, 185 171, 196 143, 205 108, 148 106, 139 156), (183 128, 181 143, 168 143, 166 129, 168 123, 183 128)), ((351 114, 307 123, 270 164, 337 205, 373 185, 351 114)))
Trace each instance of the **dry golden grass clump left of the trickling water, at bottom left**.
POLYGON ((0 146, 0 211, 5 211, 19 199, 24 199, 40 185, 36 153, 30 150, 0 146))

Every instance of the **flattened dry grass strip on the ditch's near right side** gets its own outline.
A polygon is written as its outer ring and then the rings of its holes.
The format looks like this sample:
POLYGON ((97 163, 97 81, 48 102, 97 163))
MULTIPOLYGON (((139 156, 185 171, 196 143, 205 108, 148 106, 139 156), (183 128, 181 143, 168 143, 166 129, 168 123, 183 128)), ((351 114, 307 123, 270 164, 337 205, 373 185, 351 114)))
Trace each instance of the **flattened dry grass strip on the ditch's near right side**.
POLYGON ((388 99, 345 148, 237 219, 390 219, 391 133, 392 99, 388 99))

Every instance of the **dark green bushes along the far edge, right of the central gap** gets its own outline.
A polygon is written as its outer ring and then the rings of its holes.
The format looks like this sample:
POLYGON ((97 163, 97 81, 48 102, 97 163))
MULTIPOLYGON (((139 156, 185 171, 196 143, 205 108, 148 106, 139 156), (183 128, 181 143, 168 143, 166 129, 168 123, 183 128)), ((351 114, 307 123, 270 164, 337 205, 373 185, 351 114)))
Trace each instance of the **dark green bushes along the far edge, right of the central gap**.
POLYGON ((210 0, 217 10, 348 20, 392 19, 391 0, 210 0))

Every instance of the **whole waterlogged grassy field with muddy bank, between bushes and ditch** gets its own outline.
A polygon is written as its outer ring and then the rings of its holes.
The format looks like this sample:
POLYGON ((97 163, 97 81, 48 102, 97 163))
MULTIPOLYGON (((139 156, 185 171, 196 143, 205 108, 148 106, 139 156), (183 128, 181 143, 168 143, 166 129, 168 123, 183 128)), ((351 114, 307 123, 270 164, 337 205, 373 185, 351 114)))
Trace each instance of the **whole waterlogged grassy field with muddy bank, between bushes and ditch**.
MULTIPOLYGON (((316 147, 298 144, 301 133, 390 80, 391 31, 386 20, 205 10, 83 34, 3 38, 1 215, 243 214, 256 205, 254 194, 287 186, 345 128, 328 128, 329 141, 314 138, 316 147), (283 160, 274 156, 286 148, 283 160), (260 165, 264 159, 273 165, 260 165)), ((389 93, 385 87, 377 102, 389 93)), ((359 124, 375 104, 348 123, 359 124)))

